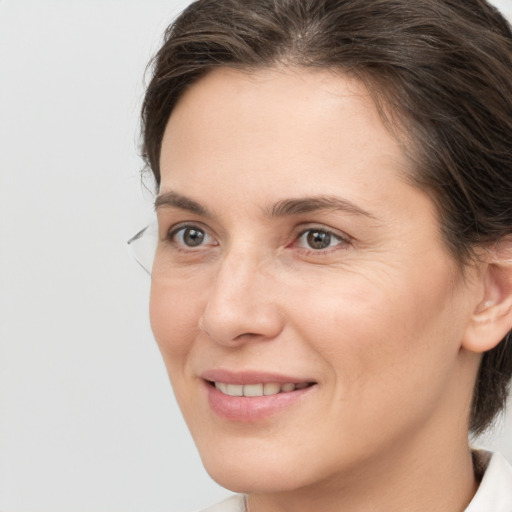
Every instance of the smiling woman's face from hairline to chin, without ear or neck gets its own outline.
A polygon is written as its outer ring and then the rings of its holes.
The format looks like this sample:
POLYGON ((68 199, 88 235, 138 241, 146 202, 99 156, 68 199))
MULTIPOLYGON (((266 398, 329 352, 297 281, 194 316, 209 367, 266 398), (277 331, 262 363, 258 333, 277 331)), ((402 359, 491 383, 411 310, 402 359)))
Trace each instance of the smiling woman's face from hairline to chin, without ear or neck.
POLYGON ((151 321, 222 485, 303 488, 465 436, 479 289, 409 168, 327 71, 216 70, 173 111, 151 321))

